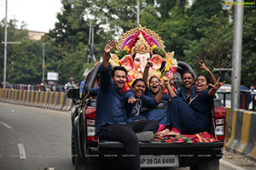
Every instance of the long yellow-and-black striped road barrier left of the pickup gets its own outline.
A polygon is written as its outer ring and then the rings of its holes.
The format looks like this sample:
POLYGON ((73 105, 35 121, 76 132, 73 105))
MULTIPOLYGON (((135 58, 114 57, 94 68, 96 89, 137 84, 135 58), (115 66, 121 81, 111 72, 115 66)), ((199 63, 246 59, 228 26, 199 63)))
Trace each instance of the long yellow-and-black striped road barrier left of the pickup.
POLYGON ((72 99, 68 99, 64 92, 0 88, 0 102, 58 111, 70 111, 73 108, 72 99))

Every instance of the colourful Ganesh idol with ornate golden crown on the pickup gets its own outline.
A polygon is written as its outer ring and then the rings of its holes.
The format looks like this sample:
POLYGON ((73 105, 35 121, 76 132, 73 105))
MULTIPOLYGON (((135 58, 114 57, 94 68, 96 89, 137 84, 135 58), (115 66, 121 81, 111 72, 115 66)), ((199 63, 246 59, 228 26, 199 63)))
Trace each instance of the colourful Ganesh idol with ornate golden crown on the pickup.
POLYGON ((177 60, 174 52, 166 53, 164 42, 158 34, 145 27, 138 26, 126 31, 117 42, 115 54, 110 54, 113 66, 122 65, 128 71, 127 82, 143 77, 148 60, 154 65, 150 67, 150 77, 168 77, 175 73, 177 60))

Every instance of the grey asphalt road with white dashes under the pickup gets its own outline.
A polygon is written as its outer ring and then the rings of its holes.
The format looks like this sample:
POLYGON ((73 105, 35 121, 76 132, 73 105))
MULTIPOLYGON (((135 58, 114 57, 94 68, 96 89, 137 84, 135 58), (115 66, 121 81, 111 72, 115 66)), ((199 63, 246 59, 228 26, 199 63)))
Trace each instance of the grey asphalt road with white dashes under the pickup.
MULTIPOLYGON (((0 170, 74 170, 70 134, 69 112, 0 103, 0 170)), ((220 169, 256 169, 256 163, 224 150, 220 169)))

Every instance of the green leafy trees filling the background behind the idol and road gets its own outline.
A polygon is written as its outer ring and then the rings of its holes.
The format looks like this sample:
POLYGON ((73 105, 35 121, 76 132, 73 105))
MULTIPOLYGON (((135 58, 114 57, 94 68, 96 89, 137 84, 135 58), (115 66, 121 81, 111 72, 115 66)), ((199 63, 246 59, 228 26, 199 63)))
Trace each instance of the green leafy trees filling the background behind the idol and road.
MULTIPOLYGON (((203 60, 210 70, 230 68, 232 65, 232 11, 222 8, 222 1, 195 0, 189 8, 185 0, 140 0, 140 24, 158 33, 166 45, 166 52, 188 62, 197 73, 203 60), (229 14, 230 13, 230 14, 229 14)), ((9 20, 8 82, 39 83, 42 80, 42 43, 45 44, 45 73, 59 73, 64 84, 69 77, 82 81, 87 63, 90 22, 94 26, 96 59, 108 40, 117 39, 125 31, 137 27, 137 0, 62 0, 55 28, 40 41, 28 38, 26 23, 17 31, 17 20, 9 20)), ((255 81, 256 35, 255 8, 244 8, 241 77, 247 85, 255 81)), ((4 41, 4 25, 0 23, 0 41, 4 41)), ((3 44, 0 48, 0 79, 3 80, 3 44)), ((216 76, 221 74, 213 71, 216 76)), ((230 77, 227 77, 230 81, 230 77)))

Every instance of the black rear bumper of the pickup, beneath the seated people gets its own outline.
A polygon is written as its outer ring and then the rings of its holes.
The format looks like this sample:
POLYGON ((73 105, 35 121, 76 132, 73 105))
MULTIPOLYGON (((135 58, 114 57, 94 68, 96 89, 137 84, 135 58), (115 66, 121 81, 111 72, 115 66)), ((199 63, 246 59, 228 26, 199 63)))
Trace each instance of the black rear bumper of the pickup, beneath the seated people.
MULTIPOLYGON (((170 167, 191 167, 200 161, 218 160, 223 156, 223 142, 212 143, 162 143, 162 142, 148 142, 139 143, 141 162, 142 157, 152 157, 152 160, 160 160, 167 157, 177 158, 178 163, 170 167)), ((118 158, 125 152, 124 144, 115 141, 104 141, 98 143, 97 147, 88 148, 89 156, 96 161, 104 159, 118 158)), ((160 164, 160 167, 163 165, 160 164)))

